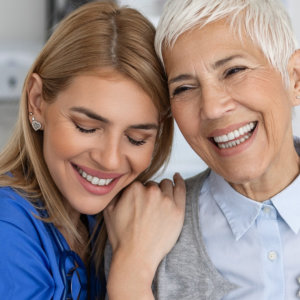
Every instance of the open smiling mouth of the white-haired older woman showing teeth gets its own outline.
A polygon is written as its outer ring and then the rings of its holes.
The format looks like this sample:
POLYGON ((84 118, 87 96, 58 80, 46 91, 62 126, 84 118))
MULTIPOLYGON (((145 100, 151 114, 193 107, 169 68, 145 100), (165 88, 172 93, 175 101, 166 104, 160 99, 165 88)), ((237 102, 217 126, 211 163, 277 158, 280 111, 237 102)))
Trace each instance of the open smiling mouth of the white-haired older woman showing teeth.
POLYGON ((237 128, 227 134, 211 137, 213 142, 219 149, 228 149, 236 147, 246 142, 253 134, 258 122, 249 122, 240 128, 237 128))

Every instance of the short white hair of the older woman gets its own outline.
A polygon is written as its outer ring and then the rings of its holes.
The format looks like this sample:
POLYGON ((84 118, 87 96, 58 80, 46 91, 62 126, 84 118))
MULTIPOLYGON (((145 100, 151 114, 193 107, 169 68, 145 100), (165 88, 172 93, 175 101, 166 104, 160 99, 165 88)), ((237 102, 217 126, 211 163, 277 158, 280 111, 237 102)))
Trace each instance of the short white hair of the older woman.
POLYGON ((245 31, 288 85, 287 65, 297 42, 279 0, 168 0, 157 27, 157 55, 163 62, 163 50, 172 48, 180 35, 221 19, 241 38, 245 31))

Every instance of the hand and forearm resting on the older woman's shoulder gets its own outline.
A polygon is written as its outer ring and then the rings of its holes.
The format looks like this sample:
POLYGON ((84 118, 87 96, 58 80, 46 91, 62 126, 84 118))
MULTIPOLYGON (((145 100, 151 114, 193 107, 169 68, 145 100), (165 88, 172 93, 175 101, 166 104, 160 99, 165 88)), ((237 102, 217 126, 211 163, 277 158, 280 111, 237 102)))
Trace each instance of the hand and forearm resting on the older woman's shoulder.
POLYGON ((110 300, 153 300, 156 269, 176 243, 184 220, 185 184, 131 184, 104 211, 113 257, 107 282, 110 300))

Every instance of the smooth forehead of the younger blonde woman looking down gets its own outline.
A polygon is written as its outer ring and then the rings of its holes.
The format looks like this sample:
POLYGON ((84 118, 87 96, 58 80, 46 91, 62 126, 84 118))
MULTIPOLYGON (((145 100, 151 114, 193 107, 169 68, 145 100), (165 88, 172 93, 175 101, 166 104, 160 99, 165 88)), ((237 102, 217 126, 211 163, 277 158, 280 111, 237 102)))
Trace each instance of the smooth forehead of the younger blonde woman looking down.
POLYGON ((152 98, 137 82, 116 71, 76 76, 53 104, 64 111, 84 107, 114 120, 145 115, 158 118, 152 98))

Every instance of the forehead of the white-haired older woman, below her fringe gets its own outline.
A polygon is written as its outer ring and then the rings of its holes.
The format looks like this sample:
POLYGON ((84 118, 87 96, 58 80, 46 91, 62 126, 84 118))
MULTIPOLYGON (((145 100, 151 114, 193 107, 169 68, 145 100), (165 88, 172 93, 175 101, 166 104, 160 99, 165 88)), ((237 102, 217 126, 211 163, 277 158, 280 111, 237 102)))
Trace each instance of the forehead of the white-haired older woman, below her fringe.
POLYGON ((246 32, 238 35, 225 20, 204 27, 195 26, 179 36, 172 47, 163 51, 167 74, 178 68, 195 68, 200 61, 205 65, 213 64, 231 55, 256 57, 267 62, 261 49, 246 32))

